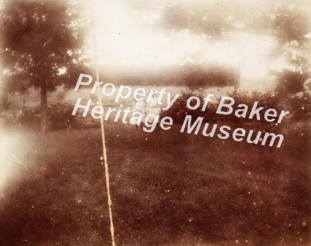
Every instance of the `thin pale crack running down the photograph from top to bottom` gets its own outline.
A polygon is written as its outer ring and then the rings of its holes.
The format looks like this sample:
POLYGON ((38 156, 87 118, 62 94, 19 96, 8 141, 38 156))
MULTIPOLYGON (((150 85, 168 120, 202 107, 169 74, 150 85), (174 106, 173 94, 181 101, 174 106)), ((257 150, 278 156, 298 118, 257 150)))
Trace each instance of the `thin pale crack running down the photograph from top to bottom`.
MULTIPOLYGON (((96 35, 95 35, 95 27, 94 27, 94 17, 93 17, 93 0, 91 1, 91 25, 93 29, 93 41, 94 41, 94 56, 95 56, 95 70, 96 70, 96 79, 100 81, 100 72, 98 69, 98 60, 97 60, 97 45, 96 45, 96 35)), ((102 95, 100 91, 97 90, 97 97, 98 101, 100 102, 100 106, 102 104, 102 95)), ((112 215, 112 200, 111 200, 111 193, 110 193, 110 182, 109 182, 109 169, 108 169, 108 161, 107 161, 107 153, 106 153, 106 140, 105 140, 105 133, 104 133, 104 117, 100 118, 100 126, 102 132, 102 149, 104 155, 104 167, 105 167, 105 176, 106 176, 106 189, 107 189, 107 198, 108 198, 108 207, 109 207, 109 220, 110 220, 110 232, 111 232, 111 245, 115 246, 115 229, 113 227, 113 215, 112 215)))

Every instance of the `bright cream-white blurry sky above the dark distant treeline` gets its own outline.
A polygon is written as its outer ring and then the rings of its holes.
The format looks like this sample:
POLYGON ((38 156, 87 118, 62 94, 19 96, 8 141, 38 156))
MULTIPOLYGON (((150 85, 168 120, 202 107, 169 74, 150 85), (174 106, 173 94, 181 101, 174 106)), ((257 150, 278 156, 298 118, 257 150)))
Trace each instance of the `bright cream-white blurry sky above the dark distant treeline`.
MULTIPOLYGON (((187 2, 176 1, 178 4, 187 2)), ((191 1, 191 4, 202 2, 216 3, 191 1)), ((256 12, 256 8, 265 8, 271 1, 237 2, 241 8, 251 8, 256 12)), ((272 86, 270 69, 281 70, 286 65, 283 59, 271 55, 277 45, 274 37, 245 32, 241 27, 241 31, 228 32, 225 39, 211 41, 207 35, 191 30, 157 28, 164 1, 153 1, 154 6, 158 6, 153 9, 144 8, 144 3, 93 0, 97 60, 101 69, 116 73, 143 73, 161 71, 186 62, 224 64, 237 68, 241 87, 252 91, 272 86)), ((94 50, 93 37, 90 50, 94 50)))

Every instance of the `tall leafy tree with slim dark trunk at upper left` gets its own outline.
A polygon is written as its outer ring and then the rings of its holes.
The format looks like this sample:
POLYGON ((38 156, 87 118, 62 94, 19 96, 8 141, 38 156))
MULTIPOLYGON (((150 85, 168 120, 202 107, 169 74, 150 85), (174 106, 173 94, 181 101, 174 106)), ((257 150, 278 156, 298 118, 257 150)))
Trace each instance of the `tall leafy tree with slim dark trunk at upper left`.
MULTIPOLYGON (((41 131, 48 126, 47 91, 81 61, 83 20, 73 1, 4 1, 1 53, 8 90, 41 91, 41 131)), ((68 81, 68 79, 67 79, 68 81)))

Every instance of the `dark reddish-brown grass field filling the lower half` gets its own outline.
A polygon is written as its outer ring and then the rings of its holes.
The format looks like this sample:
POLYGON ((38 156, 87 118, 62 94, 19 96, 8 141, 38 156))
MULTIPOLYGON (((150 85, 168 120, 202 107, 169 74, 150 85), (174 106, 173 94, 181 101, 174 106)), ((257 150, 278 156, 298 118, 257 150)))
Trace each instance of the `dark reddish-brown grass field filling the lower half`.
MULTIPOLYGON (((310 245, 310 133, 277 149, 105 124, 117 245, 310 245)), ((100 129, 3 134, 0 245, 109 245, 100 129)))

